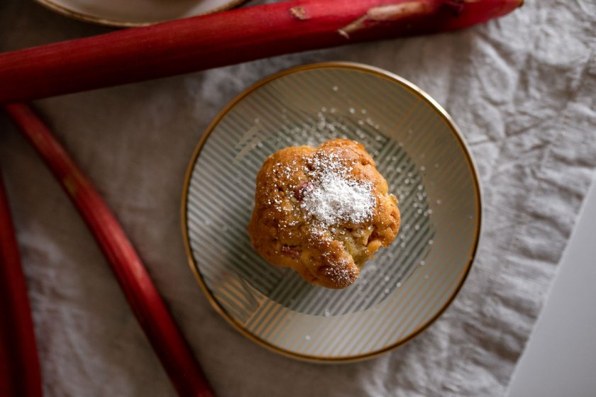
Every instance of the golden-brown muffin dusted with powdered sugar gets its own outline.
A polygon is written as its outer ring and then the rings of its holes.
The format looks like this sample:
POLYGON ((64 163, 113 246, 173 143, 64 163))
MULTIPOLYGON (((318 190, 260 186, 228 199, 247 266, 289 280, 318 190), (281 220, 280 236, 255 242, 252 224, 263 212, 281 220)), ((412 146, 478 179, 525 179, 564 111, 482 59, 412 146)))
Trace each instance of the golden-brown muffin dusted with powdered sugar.
POLYGON ((275 266, 343 289, 399 230, 397 198, 363 145, 335 139, 267 157, 256 180, 250 242, 275 266))

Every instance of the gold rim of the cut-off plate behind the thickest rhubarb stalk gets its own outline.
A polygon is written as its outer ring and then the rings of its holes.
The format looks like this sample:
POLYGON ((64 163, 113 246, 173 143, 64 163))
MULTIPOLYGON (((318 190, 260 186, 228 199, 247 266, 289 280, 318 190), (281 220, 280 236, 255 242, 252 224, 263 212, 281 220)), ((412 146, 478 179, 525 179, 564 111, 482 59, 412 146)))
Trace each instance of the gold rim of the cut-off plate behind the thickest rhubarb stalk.
MULTIPOLYGON (((162 19, 158 21, 146 21, 146 22, 133 22, 133 21, 118 21, 110 18, 102 18, 100 16, 93 16, 87 13, 82 13, 80 11, 75 11, 70 9, 67 6, 62 6, 61 4, 55 3, 54 0, 33 0, 35 3, 40 4, 41 6, 45 7, 45 9, 49 9, 50 11, 54 11, 55 13, 59 13, 62 16, 66 16, 71 19, 75 19, 76 21, 82 21, 87 23, 94 23, 95 25, 99 26, 110 26, 111 28, 140 28, 141 26, 150 26, 155 25, 155 23, 164 23, 169 21, 175 21, 175 19, 162 19)), ((185 18, 194 18, 195 16, 202 16, 208 15, 210 13, 216 13, 219 11, 226 11, 229 9, 233 9, 234 7, 241 6, 242 4, 246 3, 248 0, 228 0, 226 4, 222 6, 216 7, 204 13, 197 13, 193 16, 187 16, 185 18)))

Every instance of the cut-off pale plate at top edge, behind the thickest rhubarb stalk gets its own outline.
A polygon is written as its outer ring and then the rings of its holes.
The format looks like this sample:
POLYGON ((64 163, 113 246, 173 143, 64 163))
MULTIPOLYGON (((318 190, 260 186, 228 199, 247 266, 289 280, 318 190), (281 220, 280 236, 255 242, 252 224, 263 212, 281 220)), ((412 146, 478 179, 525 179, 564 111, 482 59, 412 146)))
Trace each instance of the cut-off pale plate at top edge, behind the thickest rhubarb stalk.
POLYGON ((79 21, 107 26, 145 26, 231 9, 246 0, 35 0, 79 21))

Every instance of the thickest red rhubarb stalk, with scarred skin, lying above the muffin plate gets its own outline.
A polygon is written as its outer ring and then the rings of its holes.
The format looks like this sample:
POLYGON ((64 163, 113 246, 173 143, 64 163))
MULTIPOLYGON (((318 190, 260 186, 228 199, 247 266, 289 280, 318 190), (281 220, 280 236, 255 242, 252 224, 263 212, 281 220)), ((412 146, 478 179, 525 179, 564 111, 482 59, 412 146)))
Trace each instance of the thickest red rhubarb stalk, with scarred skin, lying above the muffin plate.
POLYGON ((0 104, 472 26, 523 0, 297 0, 0 54, 0 104))

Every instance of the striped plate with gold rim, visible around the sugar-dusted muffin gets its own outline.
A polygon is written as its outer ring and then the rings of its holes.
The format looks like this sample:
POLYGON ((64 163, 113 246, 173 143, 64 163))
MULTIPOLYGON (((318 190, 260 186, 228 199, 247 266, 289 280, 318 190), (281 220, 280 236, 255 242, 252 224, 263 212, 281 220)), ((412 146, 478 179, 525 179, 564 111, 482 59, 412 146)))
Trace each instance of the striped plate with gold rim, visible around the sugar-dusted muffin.
POLYGON ((214 307, 265 347, 317 361, 373 357, 435 320, 468 274, 480 213, 446 112, 404 79, 339 62, 280 72, 234 99, 195 150, 182 204, 189 262, 214 307), (402 212, 397 239, 339 291, 267 264, 246 232, 265 158, 333 138, 365 145, 402 212))

